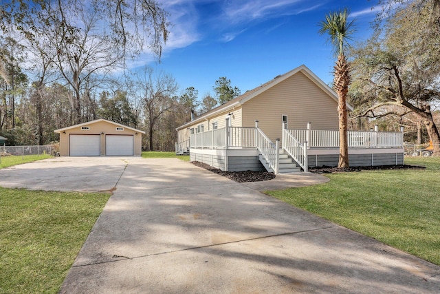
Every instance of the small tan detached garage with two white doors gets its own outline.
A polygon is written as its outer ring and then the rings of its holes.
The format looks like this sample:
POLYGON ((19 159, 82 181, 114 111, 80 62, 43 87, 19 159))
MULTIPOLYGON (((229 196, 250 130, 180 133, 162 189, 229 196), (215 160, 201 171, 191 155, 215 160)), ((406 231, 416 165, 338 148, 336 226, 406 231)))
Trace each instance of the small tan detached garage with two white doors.
POLYGON ((56 129, 61 156, 140 156, 145 132, 98 119, 56 129))

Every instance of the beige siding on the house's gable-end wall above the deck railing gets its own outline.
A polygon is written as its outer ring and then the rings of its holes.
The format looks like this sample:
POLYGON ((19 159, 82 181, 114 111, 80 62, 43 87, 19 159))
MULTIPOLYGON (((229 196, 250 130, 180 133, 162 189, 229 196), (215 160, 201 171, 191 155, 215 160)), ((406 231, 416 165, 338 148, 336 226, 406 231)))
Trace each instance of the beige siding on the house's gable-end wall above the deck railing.
POLYGON ((305 74, 298 72, 243 105, 243 126, 259 127, 271 139, 281 138, 282 116, 289 129, 338 129, 338 103, 305 74))

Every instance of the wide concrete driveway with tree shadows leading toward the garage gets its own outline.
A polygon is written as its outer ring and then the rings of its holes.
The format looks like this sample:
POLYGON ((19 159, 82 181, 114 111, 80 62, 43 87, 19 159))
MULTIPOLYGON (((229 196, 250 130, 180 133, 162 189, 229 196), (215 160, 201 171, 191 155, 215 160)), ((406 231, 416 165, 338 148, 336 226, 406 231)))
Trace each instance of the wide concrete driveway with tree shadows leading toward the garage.
MULTIPOLYGON (((46 165, 53 164, 58 173, 65 173, 63 178, 99 182, 102 175, 96 173, 107 175, 108 185, 76 187, 115 187, 61 293, 440 290, 439 266, 265 196, 256 191, 261 184, 241 185, 177 159, 44 161, 0 170, 0 185, 5 187, 6 174, 38 174, 38 165, 50 173, 46 165), (76 174, 69 176, 69 171, 76 174)), ((292 178, 307 182, 305 176, 292 178)), ((12 185, 12 180, 7 182, 12 185)), ((56 189, 56 182, 50 189, 56 189)))

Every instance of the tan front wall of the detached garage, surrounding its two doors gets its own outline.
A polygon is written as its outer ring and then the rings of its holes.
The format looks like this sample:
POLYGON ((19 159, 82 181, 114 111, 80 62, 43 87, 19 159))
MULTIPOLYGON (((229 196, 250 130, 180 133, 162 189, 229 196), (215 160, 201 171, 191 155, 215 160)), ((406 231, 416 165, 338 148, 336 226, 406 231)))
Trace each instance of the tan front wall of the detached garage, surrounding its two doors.
POLYGON ((135 156, 140 156, 142 154, 142 134, 133 131, 133 129, 129 129, 124 127, 124 130, 116 130, 119 125, 114 125, 112 123, 108 123, 107 121, 98 121, 96 123, 90 124, 82 124, 79 127, 72 127, 72 129, 66 129, 63 132, 60 132, 60 155, 61 156, 69 156, 69 134, 76 135, 100 135, 100 151, 101 155, 105 155, 105 135, 113 134, 113 135, 133 135, 134 138, 134 154, 135 156), (89 127, 89 130, 82 129, 82 127, 89 127), (102 134, 104 133, 104 134, 102 134))

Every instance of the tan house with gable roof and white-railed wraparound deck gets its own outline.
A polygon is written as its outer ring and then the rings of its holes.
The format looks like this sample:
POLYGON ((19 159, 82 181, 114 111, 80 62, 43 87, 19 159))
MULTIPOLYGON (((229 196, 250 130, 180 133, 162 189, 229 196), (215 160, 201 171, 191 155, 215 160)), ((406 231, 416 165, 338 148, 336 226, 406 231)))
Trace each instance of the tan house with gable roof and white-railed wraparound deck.
MULTIPOLYGON (((305 65, 176 130, 177 154, 189 151, 191 160, 225 171, 292 172, 338 164, 338 96, 305 65)), ((403 162, 403 134, 383 133, 349 134, 352 166, 403 162), (385 144, 379 135, 393 142, 385 144)))

